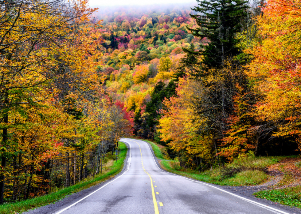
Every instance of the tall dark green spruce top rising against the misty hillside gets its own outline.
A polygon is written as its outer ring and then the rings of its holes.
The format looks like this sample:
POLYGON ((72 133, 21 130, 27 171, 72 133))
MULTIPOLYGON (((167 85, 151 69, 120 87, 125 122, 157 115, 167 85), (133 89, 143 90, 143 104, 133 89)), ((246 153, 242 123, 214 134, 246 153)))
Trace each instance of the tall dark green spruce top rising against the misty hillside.
POLYGON ((240 32, 240 21, 246 14, 245 0, 197 0, 192 8, 197 14, 190 14, 198 24, 191 29, 194 36, 207 38, 208 44, 201 45, 203 63, 209 67, 223 65, 227 58, 239 54, 235 34, 240 32))

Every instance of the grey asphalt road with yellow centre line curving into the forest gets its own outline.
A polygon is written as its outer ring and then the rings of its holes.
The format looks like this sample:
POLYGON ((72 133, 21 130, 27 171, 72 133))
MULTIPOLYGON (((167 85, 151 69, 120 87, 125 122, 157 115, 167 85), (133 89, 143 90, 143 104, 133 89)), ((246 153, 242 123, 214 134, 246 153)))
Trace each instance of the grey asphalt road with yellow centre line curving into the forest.
POLYGON ((272 214, 289 213, 160 169, 149 145, 123 138, 126 169, 88 196, 55 214, 272 214))

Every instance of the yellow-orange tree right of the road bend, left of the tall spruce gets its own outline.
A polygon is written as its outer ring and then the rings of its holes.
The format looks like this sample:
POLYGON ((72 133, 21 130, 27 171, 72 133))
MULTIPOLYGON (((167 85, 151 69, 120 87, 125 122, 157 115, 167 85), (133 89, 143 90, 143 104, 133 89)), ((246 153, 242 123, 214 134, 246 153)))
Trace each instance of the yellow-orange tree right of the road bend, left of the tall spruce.
POLYGON ((163 101, 158 132, 160 139, 169 142, 181 167, 206 169, 214 163, 214 147, 209 137, 200 136, 198 122, 200 117, 194 113, 193 97, 198 94, 199 83, 191 78, 179 78, 176 95, 163 101), (195 164, 194 164, 195 163, 195 164))

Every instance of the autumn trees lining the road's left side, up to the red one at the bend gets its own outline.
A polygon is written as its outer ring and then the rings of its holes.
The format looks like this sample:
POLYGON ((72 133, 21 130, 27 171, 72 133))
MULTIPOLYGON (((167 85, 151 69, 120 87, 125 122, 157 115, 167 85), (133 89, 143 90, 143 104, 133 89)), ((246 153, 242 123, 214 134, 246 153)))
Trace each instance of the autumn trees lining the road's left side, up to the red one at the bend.
POLYGON ((0 7, 3 203, 94 177, 103 163, 102 140, 117 147, 116 139, 131 134, 132 124, 123 104, 112 103, 101 87, 105 78, 96 66, 102 26, 90 19, 95 9, 86 1, 14 1, 0 7), (102 133, 109 125, 107 137, 102 133))

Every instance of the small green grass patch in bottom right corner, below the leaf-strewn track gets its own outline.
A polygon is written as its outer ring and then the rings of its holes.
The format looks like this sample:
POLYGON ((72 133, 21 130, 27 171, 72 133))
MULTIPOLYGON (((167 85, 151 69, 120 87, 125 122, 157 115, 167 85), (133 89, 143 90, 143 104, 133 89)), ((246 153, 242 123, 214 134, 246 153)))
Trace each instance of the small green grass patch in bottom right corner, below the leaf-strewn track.
POLYGON ((283 205, 301 208, 301 186, 279 190, 264 190, 254 193, 254 195, 283 205))

